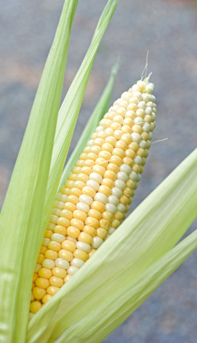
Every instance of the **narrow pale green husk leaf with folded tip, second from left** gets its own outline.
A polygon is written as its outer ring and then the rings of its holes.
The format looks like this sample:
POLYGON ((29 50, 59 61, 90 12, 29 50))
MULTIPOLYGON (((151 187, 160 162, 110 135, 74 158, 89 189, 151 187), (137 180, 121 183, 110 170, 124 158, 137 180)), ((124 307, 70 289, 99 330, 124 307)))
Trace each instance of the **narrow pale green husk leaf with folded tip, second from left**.
POLYGON ((66 161, 70 141, 76 125, 79 109, 83 100, 84 92, 88 83, 94 58, 99 48, 101 39, 109 24, 109 21, 116 9, 117 0, 109 0, 98 25, 96 26, 94 36, 90 47, 84 57, 82 64, 66 94, 66 97, 60 108, 54 139, 54 147, 51 159, 50 173, 47 185, 46 201, 43 209, 42 225, 40 228, 40 245, 44 235, 49 215, 52 208, 52 201, 55 199, 60 178, 66 161))

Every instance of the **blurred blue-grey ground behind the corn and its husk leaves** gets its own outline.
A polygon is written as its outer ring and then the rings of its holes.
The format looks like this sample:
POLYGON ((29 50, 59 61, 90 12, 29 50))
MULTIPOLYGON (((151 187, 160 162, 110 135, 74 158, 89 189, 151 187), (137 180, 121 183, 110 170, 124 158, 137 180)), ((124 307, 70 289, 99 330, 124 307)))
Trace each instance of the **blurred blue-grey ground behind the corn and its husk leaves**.
MULTIPOLYGON (((79 0, 63 97, 90 44, 106 0, 79 0)), ((0 13, 0 203, 22 142, 63 0, 7 0, 0 13)), ((149 50, 155 84, 156 129, 132 210, 197 145, 197 1, 120 0, 103 37, 70 145, 74 148, 121 59, 112 102, 140 79, 149 50)), ((62 97, 62 98, 63 98, 62 97)), ((184 196, 184 194, 183 194, 184 196)), ((196 223, 189 229, 196 228, 196 223)), ((121 324, 105 343, 196 343, 197 253, 121 324)))

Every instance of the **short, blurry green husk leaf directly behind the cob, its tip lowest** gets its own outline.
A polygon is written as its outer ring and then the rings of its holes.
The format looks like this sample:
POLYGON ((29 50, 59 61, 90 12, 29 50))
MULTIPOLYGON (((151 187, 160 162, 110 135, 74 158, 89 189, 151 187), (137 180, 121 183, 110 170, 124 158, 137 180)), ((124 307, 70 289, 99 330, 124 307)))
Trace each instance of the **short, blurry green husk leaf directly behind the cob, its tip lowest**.
POLYGON ((66 180, 68 173, 70 172, 71 168, 75 165, 75 162, 79 158, 79 155, 82 153, 84 146, 86 146, 86 143, 90 139, 91 134, 95 131, 95 128, 99 125, 99 122, 103 118, 105 113, 107 113, 107 110, 108 110, 109 104, 110 104, 111 93, 113 91, 114 82, 115 82, 116 75, 117 75, 117 72, 119 70, 119 67, 120 67, 120 63, 117 62, 113 66, 113 68, 111 69, 111 74, 110 74, 109 80, 107 82, 107 85, 106 85, 99 101, 97 102, 97 104, 93 110, 93 113, 92 113, 90 119, 88 120, 86 127, 84 128, 84 130, 81 134, 81 137, 79 138, 79 140, 75 146, 75 149, 71 153, 71 155, 68 159, 68 162, 66 162, 66 165, 64 167, 62 177, 60 180, 60 185, 58 187, 59 189, 61 186, 63 186, 64 181, 66 180))

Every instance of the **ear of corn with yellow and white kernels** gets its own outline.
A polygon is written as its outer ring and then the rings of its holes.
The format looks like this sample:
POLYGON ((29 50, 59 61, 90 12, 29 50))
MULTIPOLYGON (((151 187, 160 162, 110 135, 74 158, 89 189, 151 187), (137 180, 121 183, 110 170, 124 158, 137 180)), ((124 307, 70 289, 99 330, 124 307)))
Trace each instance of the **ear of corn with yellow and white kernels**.
POLYGON ((122 223, 155 128, 149 78, 116 100, 57 194, 32 283, 30 318, 122 223))

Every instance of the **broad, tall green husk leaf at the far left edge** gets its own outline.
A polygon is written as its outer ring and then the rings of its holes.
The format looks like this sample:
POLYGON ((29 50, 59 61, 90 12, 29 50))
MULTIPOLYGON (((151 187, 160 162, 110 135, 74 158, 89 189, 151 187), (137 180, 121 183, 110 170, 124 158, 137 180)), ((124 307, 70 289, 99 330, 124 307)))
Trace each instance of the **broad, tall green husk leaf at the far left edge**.
POLYGON ((1 212, 1 342, 21 343, 26 335, 27 299, 76 7, 77 1, 65 1, 1 212))

